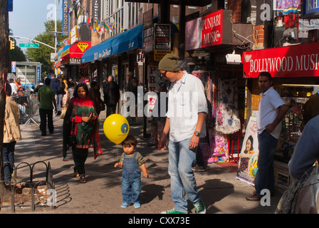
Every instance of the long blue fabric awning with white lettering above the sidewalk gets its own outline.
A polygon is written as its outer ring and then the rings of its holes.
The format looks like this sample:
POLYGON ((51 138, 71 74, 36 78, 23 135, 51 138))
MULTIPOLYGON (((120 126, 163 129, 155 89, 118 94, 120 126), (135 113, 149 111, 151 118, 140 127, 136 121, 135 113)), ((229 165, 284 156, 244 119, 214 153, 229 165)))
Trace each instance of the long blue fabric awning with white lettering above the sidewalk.
POLYGON ((88 63, 100 58, 107 58, 115 54, 142 48, 142 24, 131 28, 108 41, 90 47, 82 56, 82 63, 88 63))

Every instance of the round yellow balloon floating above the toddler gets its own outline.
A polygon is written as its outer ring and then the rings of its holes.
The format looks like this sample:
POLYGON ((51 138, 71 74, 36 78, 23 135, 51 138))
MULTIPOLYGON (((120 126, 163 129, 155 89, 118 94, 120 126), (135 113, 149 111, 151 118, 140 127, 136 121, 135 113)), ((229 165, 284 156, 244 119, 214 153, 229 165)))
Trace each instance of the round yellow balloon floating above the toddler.
POLYGON ((113 114, 105 119, 103 130, 105 136, 117 145, 125 140, 130 130, 130 126, 124 116, 113 114))

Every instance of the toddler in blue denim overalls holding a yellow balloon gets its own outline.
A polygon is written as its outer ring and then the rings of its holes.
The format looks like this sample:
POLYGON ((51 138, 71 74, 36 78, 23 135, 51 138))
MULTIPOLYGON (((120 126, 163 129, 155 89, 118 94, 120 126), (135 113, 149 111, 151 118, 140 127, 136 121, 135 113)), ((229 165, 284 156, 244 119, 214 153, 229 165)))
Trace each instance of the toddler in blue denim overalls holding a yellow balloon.
POLYGON ((133 135, 127 135, 122 142, 123 150, 120 162, 115 163, 114 167, 122 167, 122 197, 121 207, 125 208, 133 203, 135 208, 140 208, 141 195, 141 172, 147 178, 147 170, 142 155, 136 152, 137 140, 133 135))

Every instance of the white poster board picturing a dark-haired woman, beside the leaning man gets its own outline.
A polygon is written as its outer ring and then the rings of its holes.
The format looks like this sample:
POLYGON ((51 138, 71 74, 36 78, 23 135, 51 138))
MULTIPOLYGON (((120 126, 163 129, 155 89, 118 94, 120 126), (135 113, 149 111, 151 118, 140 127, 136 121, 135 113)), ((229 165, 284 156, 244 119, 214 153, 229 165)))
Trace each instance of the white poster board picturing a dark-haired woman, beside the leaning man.
POLYGON ((258 161, 258 133, 256 117, 249 119, 246 133, 239 154, 237 176, 239 180, 254 185, 258 161))

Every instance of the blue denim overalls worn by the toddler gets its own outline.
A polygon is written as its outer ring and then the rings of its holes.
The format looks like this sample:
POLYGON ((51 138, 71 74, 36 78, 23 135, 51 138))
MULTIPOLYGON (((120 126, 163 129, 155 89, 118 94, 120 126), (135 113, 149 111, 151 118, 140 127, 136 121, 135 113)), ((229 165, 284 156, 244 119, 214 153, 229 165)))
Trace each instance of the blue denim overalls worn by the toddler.
POLYGON ((141 172, 140 167, 136 162, 135 152, 134 156, 127 157, 124 153, 123 170, 122 170, 122 197, 123 202, 127 204, 140 202, 141 194, 141 172))

